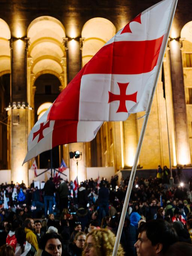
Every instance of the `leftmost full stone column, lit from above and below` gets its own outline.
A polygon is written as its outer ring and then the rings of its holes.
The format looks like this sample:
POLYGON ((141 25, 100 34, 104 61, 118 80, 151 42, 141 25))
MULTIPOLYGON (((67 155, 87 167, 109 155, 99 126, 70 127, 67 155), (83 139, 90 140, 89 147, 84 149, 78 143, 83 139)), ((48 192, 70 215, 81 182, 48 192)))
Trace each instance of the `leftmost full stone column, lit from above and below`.
POLYGON ((28 164, 22 166, 27 153, 27 101, 26 42, 12 39, 11 43, 11 171, 13 182, 28 185, 28 164))

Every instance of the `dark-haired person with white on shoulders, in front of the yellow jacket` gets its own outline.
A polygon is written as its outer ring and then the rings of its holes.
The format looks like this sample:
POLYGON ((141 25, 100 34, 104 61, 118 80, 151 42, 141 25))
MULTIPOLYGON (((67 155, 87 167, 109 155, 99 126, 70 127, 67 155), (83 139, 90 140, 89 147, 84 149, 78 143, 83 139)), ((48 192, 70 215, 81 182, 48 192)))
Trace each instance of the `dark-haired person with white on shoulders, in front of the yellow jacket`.
POLYGON ((15 256, 33 256, 36 253, 35 247, 28 243, 24 228, 18 228, 15 232, 16 248, 15 256))

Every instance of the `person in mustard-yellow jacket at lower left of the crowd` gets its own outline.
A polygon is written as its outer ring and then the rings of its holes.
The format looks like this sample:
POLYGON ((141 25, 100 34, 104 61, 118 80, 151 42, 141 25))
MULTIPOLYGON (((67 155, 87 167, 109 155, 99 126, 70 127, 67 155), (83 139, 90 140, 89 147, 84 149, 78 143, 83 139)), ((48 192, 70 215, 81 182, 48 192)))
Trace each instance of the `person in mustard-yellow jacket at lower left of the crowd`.
POLYGON ((26 233, 26 240, 28 243, 33 245, 36 250, 38 250, 38 243, 37 243, 37 236, 33 232, 34 230, 34 220, 33 219, 26 219, 24 222, 25 233, 26 233))

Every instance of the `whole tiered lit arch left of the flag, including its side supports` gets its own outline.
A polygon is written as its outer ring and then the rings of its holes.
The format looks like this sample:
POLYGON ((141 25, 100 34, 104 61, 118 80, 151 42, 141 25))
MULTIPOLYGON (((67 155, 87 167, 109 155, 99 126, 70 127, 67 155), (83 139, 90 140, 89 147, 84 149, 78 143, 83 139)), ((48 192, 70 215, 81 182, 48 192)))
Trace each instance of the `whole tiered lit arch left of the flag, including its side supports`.
MULTIPOLYGON (((60 90, 67 85, 66 50, 63 44, 65 28, 52 16, 40 16, 27 28, 29 38, 27 61, 28 103, 34 108, 35 82, 43 74, 53 74, 60 80, 60 90)), ((36 115, 36 113, 33 113, 36 115)), ((34 115, 30 128, 34 125, 34 115)))

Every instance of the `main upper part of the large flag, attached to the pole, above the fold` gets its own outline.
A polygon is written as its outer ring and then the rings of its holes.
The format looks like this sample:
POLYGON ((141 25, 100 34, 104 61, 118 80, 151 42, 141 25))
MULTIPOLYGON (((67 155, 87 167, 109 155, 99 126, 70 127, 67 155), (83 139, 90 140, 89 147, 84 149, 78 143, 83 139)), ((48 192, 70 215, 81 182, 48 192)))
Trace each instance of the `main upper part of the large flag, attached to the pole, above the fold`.
POLYGON ((79 71, 49 120, 123 121, 147 108, 167 44, 175 0, 140 13, 79 71))

